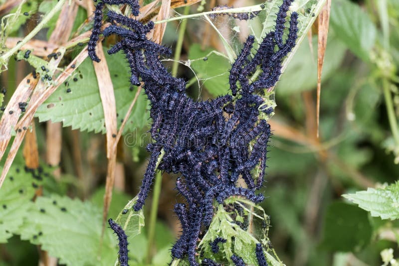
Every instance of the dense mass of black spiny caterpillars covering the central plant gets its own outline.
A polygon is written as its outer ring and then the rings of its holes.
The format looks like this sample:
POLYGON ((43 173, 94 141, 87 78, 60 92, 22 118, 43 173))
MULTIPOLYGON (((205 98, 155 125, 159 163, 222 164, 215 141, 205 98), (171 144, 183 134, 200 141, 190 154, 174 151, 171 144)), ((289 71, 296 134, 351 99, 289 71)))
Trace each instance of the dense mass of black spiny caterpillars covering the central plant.
MULTIPOLYGON (((284 27, 284 10, 291 1, 284 0, 280 7, 276 29, 284 27)), ((270 114, 273 108, 259 111, 265 105, 259 94, 261 89, 275 85, 282 58, 295 46, 298 15, 291 14, 288 39, 284 44, 280 43, 282 32, 270 32, 251 57, 254 37, 248 37, 230 70, 229 84, 232 95, 236 96, 234 99, 227 94, 214 100, 195 101, 185 92, 186 82, 173 77, 160 61, 160 56, 171 55, 171 50, 146 37, 154 23, 143 24, 109 11, 108 19, 114 24, 101 32, 104 4, 129 4, 133 15, 138 14, 139 5, 137 0, 99 1, 88 47, 90 58, 98 62, 95 46, 99 34, 118 35, 120 41, 108 53, 122 51, 125 54, 131 69, 130 82, 143 85, 151 104, 153 142, 147 146, 151 156, 134 210, 143 207, 157 165, 165 172, 180 174, 176 187, 187 204, 175 205, 182 235, 172 248, 172 257, 183 259, 187 256, 191 266, 198 266, 197 242, 210 225, 213 202, 223 204, 231 196, 241 196, 254 203, 264 199, 262 194, 255 194, 255 190, 263 184, 271 132, 270 125, 260 120, 259 114, 270 114), (249 77, 258 66, 263 73, 250 84, 249 77), (245 181, 246 188, 236 186, 239 177, 245 181)))

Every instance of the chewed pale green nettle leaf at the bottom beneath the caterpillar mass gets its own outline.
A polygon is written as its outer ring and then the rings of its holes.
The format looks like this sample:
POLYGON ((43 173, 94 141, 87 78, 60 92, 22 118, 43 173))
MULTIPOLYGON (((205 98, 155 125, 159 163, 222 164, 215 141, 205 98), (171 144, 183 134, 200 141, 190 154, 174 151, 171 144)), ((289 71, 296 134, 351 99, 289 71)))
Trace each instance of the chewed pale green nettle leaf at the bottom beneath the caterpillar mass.
POLYGON ((268 216, 265 214, 264 210, 251 201, 236 197, 227 199, 225 204, 236 204, 236 206, 243 208, 247 218, 252 217, 254 222, 255 220, 262 222, 263 226, 256 226, 258 230, 262 231, 258 234, 259 236, 257 236, 260 240, 257 240, 253 234, 243 230, 236 223, 236 221, 242 220, 242 217, 233 219, 232 215, 234 212, 227 212, 223 205, 217 205, 215 216, 199 244, 200 250, 203 251, 203 258, 201 259, 209 258, 217 263, 231 264, 230 257, 236 254, 244 260, 245 264, 257 265, 255 245, 257 243, 262 243, 266 248, 265 256, 267 262, 272 266, 283 265, 282 262, 279 262, 272 256, 274 252, 267 246, 267 242, 269 241, 267 237, 268 216), (219 244, 220 251, 214 254, 211 251, 209 243, 213 242, 217 237, 224 238, 226 243, 219 244))

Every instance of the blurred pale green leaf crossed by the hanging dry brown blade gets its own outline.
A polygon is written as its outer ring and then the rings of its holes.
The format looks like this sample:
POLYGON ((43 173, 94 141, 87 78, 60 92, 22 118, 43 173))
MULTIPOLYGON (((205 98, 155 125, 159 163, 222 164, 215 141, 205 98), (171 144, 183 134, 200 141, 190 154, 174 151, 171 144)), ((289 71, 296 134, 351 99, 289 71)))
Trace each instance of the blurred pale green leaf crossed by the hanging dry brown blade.
MULTIPOLYGON (((309 42, 304 41, 299 46, 295 56, 288 64, 277 83, 277 94, 288 95, 311 90, 317 85, 317 36, 313 37, 313 53, 309 42)), ((323 65, 322 81, 334 75, 345 56, 345 45, 336 37, 328 37, 326 54, 323 65)))

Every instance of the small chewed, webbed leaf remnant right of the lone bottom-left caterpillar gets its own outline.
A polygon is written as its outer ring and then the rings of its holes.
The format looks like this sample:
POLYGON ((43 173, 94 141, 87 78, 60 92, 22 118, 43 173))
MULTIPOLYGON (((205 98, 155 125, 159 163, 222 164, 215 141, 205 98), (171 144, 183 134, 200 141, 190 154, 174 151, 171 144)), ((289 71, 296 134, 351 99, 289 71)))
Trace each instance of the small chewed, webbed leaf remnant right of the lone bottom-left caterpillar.
MULTIPOLYGON (((130 244, 131 250, 134 252, 129 253, 129 257, 138 262, 142 262, 144 260, 146 252, 140 252, 137 248, 132 248, 132 243, 143 243, 147 240, 143 235, 140 235, 141 229, 144 227, 144 211, 141 209, 138 212, 133 210, 133 206, 136 204, 138 196, 134 197, 130 200, 126 206, 119 213, 118 217, 115 219, 115 222, 118 223, 122 229, 125 231, 128 236, 128 242, 130 244)), ((141 245, 142 247, 147 247, 147 245, 141 245)), ((116 256, 117 253, 114 254, 116 256)), ((119 265, 118 258, 115 261, 115 266, 119 265)))

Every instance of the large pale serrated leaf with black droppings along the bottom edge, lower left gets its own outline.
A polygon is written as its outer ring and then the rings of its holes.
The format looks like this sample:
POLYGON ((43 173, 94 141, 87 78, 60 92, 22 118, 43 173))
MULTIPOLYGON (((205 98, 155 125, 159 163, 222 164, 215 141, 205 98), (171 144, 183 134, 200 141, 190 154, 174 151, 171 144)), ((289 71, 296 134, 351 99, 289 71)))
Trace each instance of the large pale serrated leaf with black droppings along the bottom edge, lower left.
POLYGON ((56 195, 38 197, 26 213, 21 239, 41 245, 61 264, 109 266, 114 262, 116 237, 106 228, 101 242, 102 211, 90 202, 56 195))

